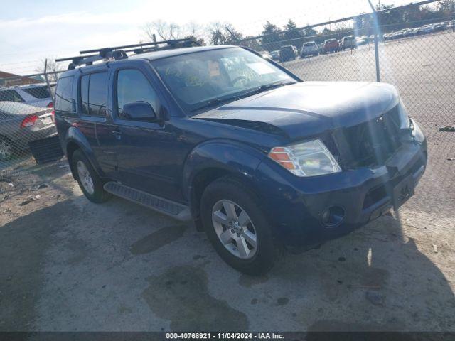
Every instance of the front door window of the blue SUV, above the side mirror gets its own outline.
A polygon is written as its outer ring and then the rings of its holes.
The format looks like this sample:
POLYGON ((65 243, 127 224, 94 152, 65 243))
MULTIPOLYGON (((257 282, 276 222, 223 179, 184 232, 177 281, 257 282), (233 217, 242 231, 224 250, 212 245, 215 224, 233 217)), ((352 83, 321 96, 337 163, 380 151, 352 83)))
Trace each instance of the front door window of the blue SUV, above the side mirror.
POLYGON ((159 110, 156 92, 144 74, 139 70, 120 70, 117 74, 119 117, 123 116, 123 106, 131 102, 147 102, 155 112, 159 110))

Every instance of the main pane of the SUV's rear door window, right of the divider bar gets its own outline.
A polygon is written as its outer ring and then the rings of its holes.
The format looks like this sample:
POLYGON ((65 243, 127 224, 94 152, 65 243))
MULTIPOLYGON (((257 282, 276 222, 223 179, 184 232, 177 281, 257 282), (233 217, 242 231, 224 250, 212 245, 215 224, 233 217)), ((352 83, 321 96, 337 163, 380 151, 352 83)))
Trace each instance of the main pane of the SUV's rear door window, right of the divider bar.
POLYGON ((88 114, 105 117, 107 101, 107 72, 92 73, 88 88, 88 114))

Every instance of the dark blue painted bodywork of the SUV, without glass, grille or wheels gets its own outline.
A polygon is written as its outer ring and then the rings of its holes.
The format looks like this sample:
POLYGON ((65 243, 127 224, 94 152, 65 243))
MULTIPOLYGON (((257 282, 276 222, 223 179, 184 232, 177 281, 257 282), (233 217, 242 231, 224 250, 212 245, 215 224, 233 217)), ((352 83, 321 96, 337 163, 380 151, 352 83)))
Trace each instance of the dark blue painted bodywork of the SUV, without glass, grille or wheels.
POLYGON ((153 60, 203 49, 146 53, 65 72, 65 77, 74 76, 75 112, 56 112, 63 150, 70 143, 77 144, 105 180, 196 207, 192 210, 195 218, 198 202, 193 202, 193 180, 198 174, 213 169, 235 175, 259 195, 264 214, 283 242, 291 245, 336 237, 375 219, 390 207, 390 196, 365 209, 368 190, 392 185, 411 174, 416 165, 426 164, 426 141, 415 129, 418 134, 395 157, 401 163, 296 177, 267 157, 271 148, 379 117, 397 105, 395 88, 378 83, 299 82, 189 117, 161 82, 153 60), (159 94, 159 120, 118 117, 114 84, 117 72, 125 68, 143 72, 159 94), (81 116, 80 77, 100 70, 109 74, 107 117, 81 116), (391 168, 397 169, 391 172, 391 168), (322 227, 321 212, 329 205, 346 210, 346 224, 322 227))

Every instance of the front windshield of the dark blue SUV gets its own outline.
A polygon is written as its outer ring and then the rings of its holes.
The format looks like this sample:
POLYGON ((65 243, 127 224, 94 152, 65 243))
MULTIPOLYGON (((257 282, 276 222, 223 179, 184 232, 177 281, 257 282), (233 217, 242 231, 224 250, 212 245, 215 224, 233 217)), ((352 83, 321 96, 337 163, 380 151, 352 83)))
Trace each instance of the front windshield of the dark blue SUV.
POLYGON ((189 112, 216 99, 235 99, 264 85, 295 82, 272 63, 242 48, 205 50, 154 60, 156 71, 189 112))

